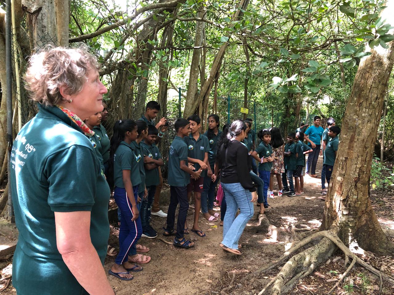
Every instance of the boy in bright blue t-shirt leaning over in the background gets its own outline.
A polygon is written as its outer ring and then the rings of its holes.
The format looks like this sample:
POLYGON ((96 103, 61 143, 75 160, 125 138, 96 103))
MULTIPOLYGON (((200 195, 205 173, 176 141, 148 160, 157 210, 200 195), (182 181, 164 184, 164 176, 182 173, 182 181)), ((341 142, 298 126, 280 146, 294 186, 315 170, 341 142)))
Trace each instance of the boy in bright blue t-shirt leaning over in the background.
POLYGON ((321 120, 319 116, 314 116, 313 126, 310 126, 307 131, 305 131, 305 139, 309 142, 310 146, 312 146, 312 153, 308 156, 306 171, 311 177, 318 177, 318 175, 316 175, 316 164, 319 159, 320 141, 322 140, 324 131, 323 127, 320 126, 321 120))

